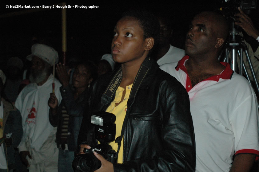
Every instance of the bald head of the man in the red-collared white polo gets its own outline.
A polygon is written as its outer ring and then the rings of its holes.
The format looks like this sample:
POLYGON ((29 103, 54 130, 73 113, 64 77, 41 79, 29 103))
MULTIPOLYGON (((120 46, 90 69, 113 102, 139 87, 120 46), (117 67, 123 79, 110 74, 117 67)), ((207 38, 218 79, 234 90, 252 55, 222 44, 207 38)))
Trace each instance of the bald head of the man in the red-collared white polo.
POLYGON ((215 12, 197 14, 186 36, 185 53, 189 56, 217 58, 228 35, 228 23, 215 12))

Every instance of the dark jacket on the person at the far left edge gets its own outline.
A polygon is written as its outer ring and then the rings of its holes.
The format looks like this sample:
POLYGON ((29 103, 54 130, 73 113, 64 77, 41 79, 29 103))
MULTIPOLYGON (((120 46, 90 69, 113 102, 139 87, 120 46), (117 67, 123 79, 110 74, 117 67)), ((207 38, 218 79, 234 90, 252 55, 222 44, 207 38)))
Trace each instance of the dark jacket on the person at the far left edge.
POLYGON ((3 134, 12 133, 11 138, 13 139, 12 145, 10 147, 4 146, 5 155, 8 160, 8 169, 16 168, 14 153, 15 147, 18 147, 22 139, 22 116, 21 113, 8 101, 2 98, 1 102, 4 106, 3 114, 3 134), (7 154, 6 154, 7 150, 7 154))

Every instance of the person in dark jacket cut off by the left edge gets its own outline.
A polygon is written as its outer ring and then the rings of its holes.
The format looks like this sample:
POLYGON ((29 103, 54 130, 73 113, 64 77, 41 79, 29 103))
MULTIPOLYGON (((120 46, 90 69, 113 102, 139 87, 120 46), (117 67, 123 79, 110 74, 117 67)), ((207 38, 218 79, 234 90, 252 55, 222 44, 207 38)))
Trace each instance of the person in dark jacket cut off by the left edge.
POLYGON ((21 113, 2 97, 6 76, 0 70, 0 172, 19 170, 15 148, 22 139, 21 113))

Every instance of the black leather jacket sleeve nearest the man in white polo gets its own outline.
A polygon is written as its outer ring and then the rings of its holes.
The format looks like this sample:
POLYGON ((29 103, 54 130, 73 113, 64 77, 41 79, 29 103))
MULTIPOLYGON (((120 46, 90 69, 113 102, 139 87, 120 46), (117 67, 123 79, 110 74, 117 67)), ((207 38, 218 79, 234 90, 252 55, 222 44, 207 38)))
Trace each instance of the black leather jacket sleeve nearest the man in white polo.
MULTIPOLYGON (((138 158, 123 164, 114 164, 115 172, 195 171, 195 140, 189 96, 185 88, 178 83, 176 86, 167 85, 166 82, 161 83, 160 92, 162 116, 160 135, 164 151, 150 158, 138 158)), ((152 134, 149 137, 152 137, 152 134)), ((145 148, 143 145, 142 149, 145 148)))

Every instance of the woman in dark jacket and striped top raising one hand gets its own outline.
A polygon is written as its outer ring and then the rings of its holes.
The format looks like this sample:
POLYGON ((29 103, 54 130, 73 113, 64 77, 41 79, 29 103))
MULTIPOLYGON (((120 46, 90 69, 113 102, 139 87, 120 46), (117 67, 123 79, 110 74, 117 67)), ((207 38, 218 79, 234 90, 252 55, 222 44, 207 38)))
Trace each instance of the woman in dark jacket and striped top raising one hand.
POLYGON ((59 148, 58 171, 74 171, 72 161, 77 147, 77 138, 83 115, 88 111, 88 88, 97 76, 95 65, 83 62, 73 72, 73 85, 69 84, 69 75, 62 64, 57 65, 57 74, 62 86, 61 104, 54 93, 50 94, 49 119, 53 127, 58 127, 56 142, 59 148))

